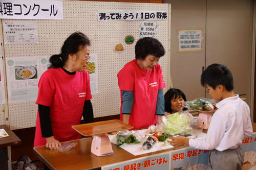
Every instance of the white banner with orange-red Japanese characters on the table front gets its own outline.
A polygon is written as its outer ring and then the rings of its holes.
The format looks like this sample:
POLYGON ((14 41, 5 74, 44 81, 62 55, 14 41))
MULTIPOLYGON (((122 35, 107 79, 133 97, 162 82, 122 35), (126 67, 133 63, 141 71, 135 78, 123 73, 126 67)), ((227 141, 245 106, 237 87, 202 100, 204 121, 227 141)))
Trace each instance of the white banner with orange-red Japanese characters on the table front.
POLYGON ((149 157, 142 157, 125 162, 120 162, 112 165, 102 166, 102 170, 155 170, 155 169, 169 169, 170 165, 169 153, 153 155, 149 157))

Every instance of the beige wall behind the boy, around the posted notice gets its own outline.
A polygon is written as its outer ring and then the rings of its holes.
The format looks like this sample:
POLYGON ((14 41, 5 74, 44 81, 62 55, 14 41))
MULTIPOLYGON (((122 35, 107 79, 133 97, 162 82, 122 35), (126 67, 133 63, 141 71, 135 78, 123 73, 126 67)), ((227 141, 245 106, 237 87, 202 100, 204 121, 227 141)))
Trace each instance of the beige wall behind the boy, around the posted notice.
MULTIPOLYGON (((226 65, 250 105, 253 0, 166 0, 172 5, 170 75, 187 100, 205 96, 202 67, 226 65), (201 52, 178 52, 178 30, 202 29, 201 52)), ((210 96, 207 94, 207 98, 210 96)))

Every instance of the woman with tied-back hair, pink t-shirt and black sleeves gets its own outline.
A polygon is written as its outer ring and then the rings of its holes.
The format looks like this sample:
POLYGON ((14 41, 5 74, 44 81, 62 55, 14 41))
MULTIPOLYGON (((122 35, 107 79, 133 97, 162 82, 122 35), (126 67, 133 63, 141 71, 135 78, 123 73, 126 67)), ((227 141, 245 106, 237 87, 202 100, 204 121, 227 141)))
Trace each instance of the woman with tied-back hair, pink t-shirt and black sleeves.
POLYGON ((90 77, 85 70, 89 55, 89 38, 75 32, 63 43, 61 54, 50 57, 50 68, 38 83, 34 147, 58 149, 60 142, 81 138, 71 126, 80 124, 82 116, 85 123, 94 122, 90 77))

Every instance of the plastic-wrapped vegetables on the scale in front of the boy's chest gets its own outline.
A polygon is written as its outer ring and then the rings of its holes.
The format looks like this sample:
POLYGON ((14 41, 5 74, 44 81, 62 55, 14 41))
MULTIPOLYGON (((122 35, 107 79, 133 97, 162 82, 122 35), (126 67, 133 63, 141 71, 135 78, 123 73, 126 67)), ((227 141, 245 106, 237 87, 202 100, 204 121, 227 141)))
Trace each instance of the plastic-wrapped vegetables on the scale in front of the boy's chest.
POLYGON ((207 99, 207 98, 198 98, 193 101, 186 101, 185 107, 191 110, 207 110, 207 111, 214 111, 216 105, 216 101, 214 99, 207 99))

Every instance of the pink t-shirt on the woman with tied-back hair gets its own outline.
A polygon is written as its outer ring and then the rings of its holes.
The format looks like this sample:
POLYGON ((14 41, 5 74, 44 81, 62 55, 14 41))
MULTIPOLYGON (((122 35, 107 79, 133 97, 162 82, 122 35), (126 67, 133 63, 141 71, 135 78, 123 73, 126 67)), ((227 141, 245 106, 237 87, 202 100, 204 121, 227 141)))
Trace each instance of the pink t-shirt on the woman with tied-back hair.
MULTIPOLYGON (((92 99, 88 72, 68 75, 60 67, 50 68, 42 74, 38 88, 36 104, 50 106, 54 138, 59 142, 80 139, 71 126, 80 124, 84 101, 92 99)), ((37 112, 34 147, 45 144, 37 112)))

